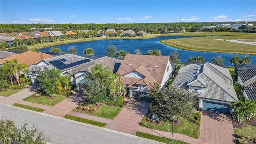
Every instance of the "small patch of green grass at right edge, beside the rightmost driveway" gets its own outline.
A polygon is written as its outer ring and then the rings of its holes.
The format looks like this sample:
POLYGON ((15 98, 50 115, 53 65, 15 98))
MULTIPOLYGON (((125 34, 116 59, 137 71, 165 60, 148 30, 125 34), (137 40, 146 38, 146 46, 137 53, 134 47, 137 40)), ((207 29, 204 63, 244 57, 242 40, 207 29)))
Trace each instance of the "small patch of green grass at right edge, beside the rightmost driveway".
POLYGON ((248 125, 246 128, 244 129, 238 129, 238 128, 234 128, 234 132, 235 134, 241 134, 244 135, 245 137, 253 137, 256 138, 256 126, 251 126, 248 125))

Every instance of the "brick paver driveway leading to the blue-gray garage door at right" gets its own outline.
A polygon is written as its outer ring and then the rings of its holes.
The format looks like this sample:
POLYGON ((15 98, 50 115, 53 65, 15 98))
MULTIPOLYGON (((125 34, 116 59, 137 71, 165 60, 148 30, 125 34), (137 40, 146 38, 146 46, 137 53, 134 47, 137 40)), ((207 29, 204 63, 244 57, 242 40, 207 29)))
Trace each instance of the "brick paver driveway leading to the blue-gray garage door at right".
POLYGON ((202 111, 199 141, 200 144, 235 144, 230 116, 202 111))

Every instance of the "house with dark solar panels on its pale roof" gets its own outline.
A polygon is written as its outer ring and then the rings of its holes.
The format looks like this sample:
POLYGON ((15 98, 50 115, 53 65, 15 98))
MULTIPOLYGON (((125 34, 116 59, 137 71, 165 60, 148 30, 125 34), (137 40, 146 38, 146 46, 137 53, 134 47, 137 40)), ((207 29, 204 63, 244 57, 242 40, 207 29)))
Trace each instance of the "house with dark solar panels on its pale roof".
POLYGON ((36 76, 39 74, 40 70, 44 70, 45 67, 47 67, 49 70, 54 68, 59 69, 62 71, 62 74, 64 74, 66 71, 90 61, 92 60, 74 54, 54 56, 43 59, 40 62, 29 66, 28 76, 31 79, 32 84, 36 85, 36 76))

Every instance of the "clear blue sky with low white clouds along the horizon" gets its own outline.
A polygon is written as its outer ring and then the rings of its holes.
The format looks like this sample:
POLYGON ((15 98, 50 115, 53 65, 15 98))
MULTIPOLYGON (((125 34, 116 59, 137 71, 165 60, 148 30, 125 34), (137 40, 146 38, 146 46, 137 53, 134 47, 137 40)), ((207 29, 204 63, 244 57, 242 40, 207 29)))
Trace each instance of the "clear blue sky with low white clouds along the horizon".
POLYGON ((1 24, 240 21, 256 21, 256 0, 0 0, 1 24))

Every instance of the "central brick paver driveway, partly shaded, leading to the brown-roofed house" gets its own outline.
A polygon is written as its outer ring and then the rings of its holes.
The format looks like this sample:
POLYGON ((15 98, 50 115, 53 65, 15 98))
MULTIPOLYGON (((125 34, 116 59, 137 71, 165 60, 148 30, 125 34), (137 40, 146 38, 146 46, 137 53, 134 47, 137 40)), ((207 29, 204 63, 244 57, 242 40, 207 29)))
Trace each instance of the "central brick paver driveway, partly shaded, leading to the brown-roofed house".
POLYGON ((132 99, 105 128, 136 135, 139 123, 146 112, 148 112, 148 108, 149 102, 132 99))

